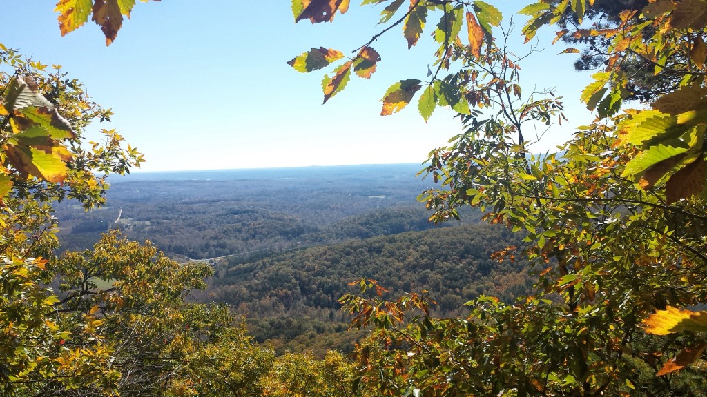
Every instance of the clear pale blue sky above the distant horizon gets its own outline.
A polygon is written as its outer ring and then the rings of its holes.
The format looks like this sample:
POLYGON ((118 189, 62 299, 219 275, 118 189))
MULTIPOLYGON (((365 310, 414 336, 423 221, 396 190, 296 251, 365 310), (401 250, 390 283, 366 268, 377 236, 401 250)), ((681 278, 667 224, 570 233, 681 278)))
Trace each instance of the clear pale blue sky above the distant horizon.
MULTIPOLYGON (((489 2, 508 19, 525 1, 489 2)), ((451 111, 437 109, 426 124, 415 103, 379 115, 389 85, 425 78, 432 61, 427 33, 407 50, 400 30, 391 30, 373 46, 382 57, 373 78, 352 77, 326 105, 324 73, 301 74, 286 64, 311 47, 356 49, 380 30, 380 7, 352 4, 334 23, 312 25, 294 23, 286 0, 138 2, 105 47, 90 21, 61 37, 52 3, 5 4, 0 42, 83 81, 115 112, 111 123, 91 129, 117 129, 146 154, 146 171, 423 162, 460 131, 451 111)), ((514 18, 520 36, 525 17, 514 18)), ((556 55, 563 47, 551 46, 551 37, 550 30, 540 35, 544 50, 522 64, 522 85, 524 92, 559 85, 570 122, 552 129, 538 152, 591 120, 578 99, 590 79, 573 71, 575 56, 556 55)))

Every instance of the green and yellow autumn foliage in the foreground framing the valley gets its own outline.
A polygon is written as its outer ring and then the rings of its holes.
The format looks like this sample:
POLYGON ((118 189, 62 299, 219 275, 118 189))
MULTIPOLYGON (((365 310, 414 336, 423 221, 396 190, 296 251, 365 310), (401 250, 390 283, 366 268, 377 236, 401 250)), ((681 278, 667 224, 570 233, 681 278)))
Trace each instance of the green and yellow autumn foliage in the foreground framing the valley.
MULTIPOLYGON (((349 3, 293 0, 293 17, 330 22, 349 3)), ((479 208, 487 222, 525 233, 520 251, 495 257, 523 255, 537 273, 531 295, 512 303, 481 296, 465 304, 467 316, 451 319, 432 316, 423 293, 387 301, 385 285, 361 279, 361 295, 340 300, 352 326, 371 330, 352 360, 275 360, 226 307, 185 301, 209 266, 182 266, 150 244, 112 232, 94 249, 54 256, 52 203, 100 205, 107 186, 96 172, 128 172, 141 154, 114 130, 87 149, 84 129, 110 111, 60 69, 0 47, 4 393, 699 395, 707 4, 617 3, 540 0, 519 11, 526 42, 559 29, 555 41, 580 54, 578 68, 596 68, 580 95, 596 119, 557 154, 531 153, 526 132, 571 120, 551 90, 524 89, 522 57, 506 48, 508 19, 489 2, 364 0, 382 8, 382 25, 352 57, 313 47, 288 62, 300 72, 328 68, 327 102, 352 75, 371 78, 382 67, 385 54, 372 47, 379 35, 397 28, 413 47, 431 33, 438 49, 423 60, 429 76, 402 76, 382 95, 381 114, 415 99, 425 120, 436 107, 457 113, 464 132, 433 150, 423 171, 440 184, 422 197, 431 219, 479 208), (60 293, 47 286, 52 280, 60 293)), ((90 17, 110 45, 134 4, 62 0, 56 11, 62 34, 90 17)))

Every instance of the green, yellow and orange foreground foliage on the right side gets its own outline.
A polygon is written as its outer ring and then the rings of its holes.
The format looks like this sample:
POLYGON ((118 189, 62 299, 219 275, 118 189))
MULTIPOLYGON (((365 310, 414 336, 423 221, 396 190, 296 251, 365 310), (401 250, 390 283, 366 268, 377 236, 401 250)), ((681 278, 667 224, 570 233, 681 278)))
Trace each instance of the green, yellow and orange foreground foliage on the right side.
MULTIPOLYGON (((390 396, 699 395, 707 347, 707 4, 627 1, 621 11, 599 0, 541 0, 522 8, 526 42, 559 25, 556 42, 584 47, 562 52, 582 52, 581 67, 593 59, 600 68, 581 95, 595 122, 580 126, 561 155, 539 156, 530 147, 544 125, 566 121, 563 104, 550 90, 522 89, 525 55, 507 50, 514 26, 495 6, 363 4, 382 7, 381 34, 399 26, 411 47, 427 25, 439 46, 428 80, 391 85, 381 112, 398 112, 421 93, 423 119, 451 107, 464 125, 430 154, 425 172, 441 184, 422 197, 432 219, 480 208, 489 223, 526 233, 522 254, 538 275, 533 295, 512 305, 472 300, 466 319, 434 319, 419 295, 342 298, 354 325, 374 330, 358 350, 366 381, 390 396), (626 109, 631 100, 652 109, 626 109)), ((293 0, 293 13, 319 23, 348 5, 293 0)), ((370 47, 377 38, 353 57, 313 48, 288 63, 300 72, 332 65, 322 81, 327 102, 354 74, 368 78, 381 67, 370 47)), ((361 285, 381 291, 373 280, 361 285)))

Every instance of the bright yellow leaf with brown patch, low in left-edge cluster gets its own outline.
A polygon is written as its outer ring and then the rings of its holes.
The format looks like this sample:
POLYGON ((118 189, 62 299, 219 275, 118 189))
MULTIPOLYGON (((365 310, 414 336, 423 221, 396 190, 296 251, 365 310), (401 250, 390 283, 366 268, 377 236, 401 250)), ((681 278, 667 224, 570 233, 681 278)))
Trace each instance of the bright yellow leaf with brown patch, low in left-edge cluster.
POLYGON ((22 175, 33 175, 48 182, 62 182, 66 178, 66 164, 56 153, 27 146, 3 146, 7 160, 22 175))

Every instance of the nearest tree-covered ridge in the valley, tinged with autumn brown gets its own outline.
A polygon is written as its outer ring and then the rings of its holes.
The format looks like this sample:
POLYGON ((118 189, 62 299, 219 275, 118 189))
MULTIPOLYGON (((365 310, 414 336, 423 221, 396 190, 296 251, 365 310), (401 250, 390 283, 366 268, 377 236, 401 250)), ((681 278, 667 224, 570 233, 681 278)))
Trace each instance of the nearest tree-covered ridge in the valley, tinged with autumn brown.
POLYGON ((496 261, 493 252, 522 244, 518 235, 483 223, 405 232, 299 251, 257 261, 238 258, 216 266, 209 288, 192 292, 204 302, 225 302, 245 314, 259 342, 279 349, 349 351, 361 333, 347 333, 339 298, 354 292, 351 281, 378 280, 386 297, 429 291, 441 316, 464 313, 479 295, 513 302, 530 291, 527 262, 496 261), (313 338, 316 335, 317 338, 313 338))

